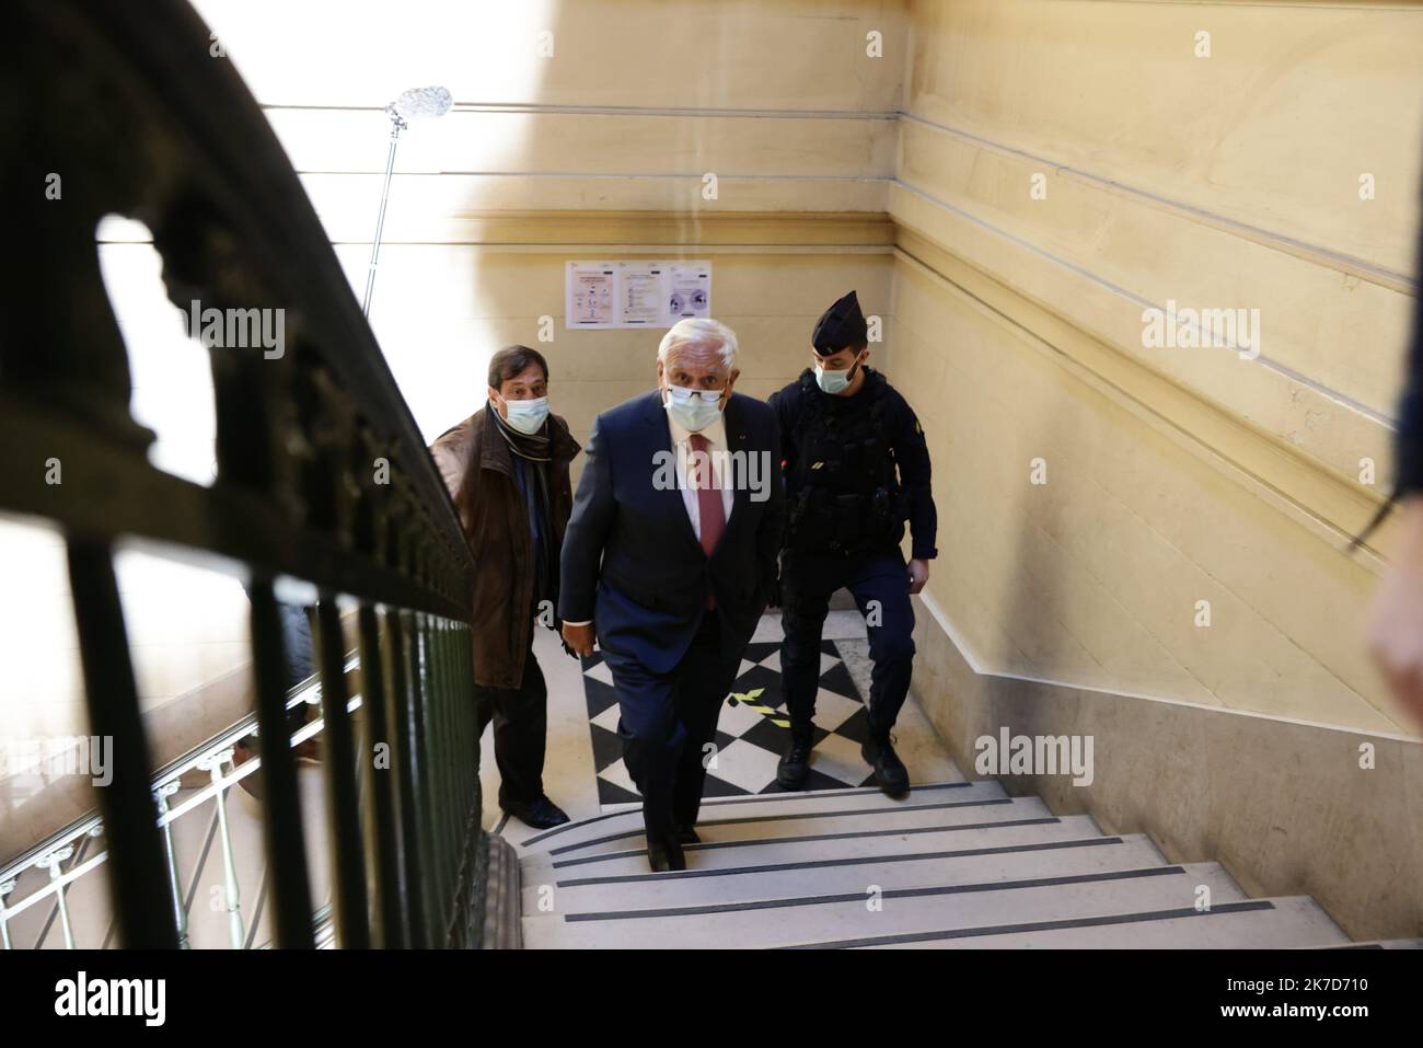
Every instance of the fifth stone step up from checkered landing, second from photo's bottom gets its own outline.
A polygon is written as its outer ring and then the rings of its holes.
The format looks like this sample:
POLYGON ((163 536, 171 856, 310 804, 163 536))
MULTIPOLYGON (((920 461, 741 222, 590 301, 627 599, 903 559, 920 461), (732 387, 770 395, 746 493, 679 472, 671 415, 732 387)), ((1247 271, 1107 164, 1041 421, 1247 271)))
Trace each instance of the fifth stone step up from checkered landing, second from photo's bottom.
POLYGON ((527 947, 564 948, 757 948, 858 943, 912 936, 925 928, 965 930, 1037 921, 1100 918, 1191 908, 1201 886, 1212 906, 1245 901, 1217 863, 1148 866, 1059 874, 1016 881, 884 889, 872 903, 867 886, 844 894, 814 891, 747 904, 663 910, 592 910, 525 918, 527 947))

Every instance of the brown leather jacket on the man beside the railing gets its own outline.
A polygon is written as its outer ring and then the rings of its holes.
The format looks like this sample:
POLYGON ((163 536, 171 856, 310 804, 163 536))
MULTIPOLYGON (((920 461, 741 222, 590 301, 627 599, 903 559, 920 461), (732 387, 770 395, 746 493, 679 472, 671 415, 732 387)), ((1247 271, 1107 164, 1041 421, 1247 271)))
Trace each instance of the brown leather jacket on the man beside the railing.
MULTIPOLYGON (((568 423, 548 416, 554 461, 549 464, 549 527, 554 555, 573 504, 568 464, 578 441, 568 423)), ((460 511, 474 554, 474 682, 485 688, 518 688, 524 678, 534 602, 534 550, 528 510, 514 477, 514 453, 487 410, 445 430, 430 446, 440 476, 460 511)))

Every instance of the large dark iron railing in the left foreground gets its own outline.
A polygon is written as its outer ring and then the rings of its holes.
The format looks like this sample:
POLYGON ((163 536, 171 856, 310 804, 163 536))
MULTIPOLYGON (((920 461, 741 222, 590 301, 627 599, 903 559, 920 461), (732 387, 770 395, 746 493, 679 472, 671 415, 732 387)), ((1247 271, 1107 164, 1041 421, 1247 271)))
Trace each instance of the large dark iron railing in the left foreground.
MULTIPOLYGON (((120 944, 179 943, 114 574, 127 538, 243 578, 263 739, 286 736, 273 585, 290 577, 317 588, 337 940, 478 944, 488 859, 465 625, 474 567, 296 175, 179 0, 20 0, 6 14, 0 187, 24 265, 0 293, 0 510, 53 523, 67 544, 90 732, 115 755, 98 817, 120 944), (155 470, 145 454, 154 434, 129 414, 128 360, 94 239, 108 215, 152 231, 176 308, 285 316, 282 353, 208 349, 211 487, 155 470), (61 483, 47 480, 54 463, 61 483), (359 604, 370 740, 390 746, 369 803, 357 795, 356 762, 370 752, 354 748, 339 597, 359 604)), ((263 758, 275 940, 312 945, 295 759, 270 745, 263 758)))

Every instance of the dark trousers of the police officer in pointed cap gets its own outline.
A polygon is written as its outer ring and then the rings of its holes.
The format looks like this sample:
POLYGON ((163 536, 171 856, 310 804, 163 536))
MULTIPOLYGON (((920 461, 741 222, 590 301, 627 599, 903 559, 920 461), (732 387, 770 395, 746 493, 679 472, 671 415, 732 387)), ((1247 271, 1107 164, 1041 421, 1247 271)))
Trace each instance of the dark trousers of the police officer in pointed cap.
POLYGON ((820 636, 830 598, 841 587, 854 594, 869 635, 869 726, 894 728, 914 672, 914 605, 909 574, 898 550, 859 557, 787 557, 781 568, 781 686, 791 730, 811 735, 815 692, 820 688, 820 636))

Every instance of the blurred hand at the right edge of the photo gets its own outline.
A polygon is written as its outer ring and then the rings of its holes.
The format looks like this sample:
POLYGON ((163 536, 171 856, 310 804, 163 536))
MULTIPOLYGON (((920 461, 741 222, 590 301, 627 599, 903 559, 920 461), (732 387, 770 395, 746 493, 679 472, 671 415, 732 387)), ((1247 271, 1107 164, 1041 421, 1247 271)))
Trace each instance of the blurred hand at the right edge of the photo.
POLYGON ((1369 615, 1369 648, 1389 691, 1423 728, 1423 496, 1403 503, 1402 543, 1369 615))

